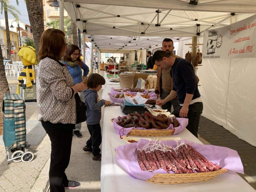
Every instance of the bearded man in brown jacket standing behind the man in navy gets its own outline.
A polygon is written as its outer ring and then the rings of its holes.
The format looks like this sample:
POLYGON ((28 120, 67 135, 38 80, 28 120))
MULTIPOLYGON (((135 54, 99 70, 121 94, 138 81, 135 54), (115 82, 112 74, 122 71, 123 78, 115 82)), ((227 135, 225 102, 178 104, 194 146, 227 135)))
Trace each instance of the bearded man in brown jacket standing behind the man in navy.
MULTIPOLYGON (((165 51, 171 57, 180 58, 179 56, 177 56, 173 53, 173 49, 174 49, 174 46, 173 46, 172 39, 165 38, 162 43, 162 50, 165 51)), ((162 100, 165 99, 170 94, 172 87, 173 87, 173 82, 172 82, 170 71, 171 71, 171 67, 169 67, 168 69, 159 67, 159 69, 157 71, 155 93, 156 93, 156 96, 158 97, 158 95, 159 95, 159 97, 162 100)), ((171 112, 172 106, 173 106, 172 114, 174 114, 176 117, 179 117, 179 106, 180 105, 179 105, 179 102, 176 97, 174 99, 166 102, 164 105, 162 105, 162 108, 167 109, 169 112, 171 112)))

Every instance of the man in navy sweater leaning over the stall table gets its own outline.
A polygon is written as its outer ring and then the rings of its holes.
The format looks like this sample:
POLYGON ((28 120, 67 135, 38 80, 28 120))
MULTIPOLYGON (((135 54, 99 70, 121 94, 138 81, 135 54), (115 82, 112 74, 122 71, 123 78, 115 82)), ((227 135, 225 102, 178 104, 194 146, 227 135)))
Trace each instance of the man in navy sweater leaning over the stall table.
POLYGON ((163 69, 171 67, 170 73, 173 80, 170 94, 164 100, 156 101, 156 104, 162 106, 177 96, 181 105, 179 116, 188 118, 186 128, 197 137, 203 103, 197 88, 193 66, 187 60, 171 57, 161 50, 154 53, 153 63, 163 69))

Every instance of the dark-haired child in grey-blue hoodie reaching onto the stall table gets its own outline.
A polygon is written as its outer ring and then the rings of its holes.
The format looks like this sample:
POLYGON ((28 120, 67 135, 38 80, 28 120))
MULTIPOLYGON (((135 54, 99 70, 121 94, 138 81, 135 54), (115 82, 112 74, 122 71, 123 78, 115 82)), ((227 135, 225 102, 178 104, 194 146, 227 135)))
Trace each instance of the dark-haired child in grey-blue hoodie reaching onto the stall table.
POLYGON ((101 161, 100 144, 101 144, 101 107, 108 105, 111 102, 100 100, 98 91, 101 90, 102 85, 105 84, 105 79, 97 73, 91 74, 87 81, 89 89, 83 92, 86 110, 86 124, 91 137, 84 146, 84 151, 92 152, 92 160, 101 161))

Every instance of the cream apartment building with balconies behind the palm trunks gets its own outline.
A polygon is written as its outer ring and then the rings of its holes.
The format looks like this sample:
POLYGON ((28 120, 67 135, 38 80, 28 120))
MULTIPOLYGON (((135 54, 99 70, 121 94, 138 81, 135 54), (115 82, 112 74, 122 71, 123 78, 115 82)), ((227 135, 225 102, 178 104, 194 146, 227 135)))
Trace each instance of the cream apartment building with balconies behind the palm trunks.
MULTIPOLYGON (((43 8, 44 8, 44 30, 49 27, 46 27, 46 23, 52 20, 56 20, 60 18, 60 8, 51 7, 50 4, 53 3, 53 0, 43 0, 43 8)), ((64 17, 68 16, 66 10, 64 10, 64 17)))

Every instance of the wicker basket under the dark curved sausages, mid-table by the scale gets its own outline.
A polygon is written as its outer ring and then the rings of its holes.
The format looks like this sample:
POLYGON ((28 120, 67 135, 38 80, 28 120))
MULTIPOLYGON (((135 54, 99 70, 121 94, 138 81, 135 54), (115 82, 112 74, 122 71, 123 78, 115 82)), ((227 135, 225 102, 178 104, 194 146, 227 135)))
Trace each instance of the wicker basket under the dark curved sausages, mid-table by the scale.
MULTIPOLYGON (((110 119, 113 123, 114 119, 110 119)), ((144 136, 144 137, 153 137, 153 136, 168 136, 173 135, 174 129, 168 130, 139 130, 139 129, 132 129, 127 135, 133 136, 144 136)))

